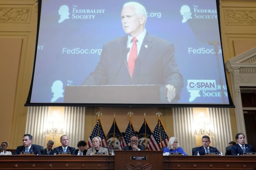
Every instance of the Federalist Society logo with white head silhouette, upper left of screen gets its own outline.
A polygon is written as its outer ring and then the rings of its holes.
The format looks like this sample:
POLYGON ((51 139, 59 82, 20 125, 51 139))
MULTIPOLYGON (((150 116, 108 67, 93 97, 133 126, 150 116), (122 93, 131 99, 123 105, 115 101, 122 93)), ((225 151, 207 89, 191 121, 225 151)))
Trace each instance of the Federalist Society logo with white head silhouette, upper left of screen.
MULTIPOLYGON (((69 7, 68 5, 61 5, 59 9, 59 23, 66 19, 69 19, 69 7)), ((78 5, 72 5, 71 19, 95 19, 99 13, 104 13, 105 9, 81 9, 78 5)))

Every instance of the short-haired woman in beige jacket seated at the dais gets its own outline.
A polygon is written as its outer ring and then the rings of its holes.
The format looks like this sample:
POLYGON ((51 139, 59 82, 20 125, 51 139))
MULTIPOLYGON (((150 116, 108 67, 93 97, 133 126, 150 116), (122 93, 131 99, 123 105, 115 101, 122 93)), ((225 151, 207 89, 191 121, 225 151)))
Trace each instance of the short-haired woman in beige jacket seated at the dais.
POLYGON ((95 152, 104 152, 105 155, 109 155, 108 149, 101 146, 101 138, 99 136, 95 136, 92 141, 93 147, 87 150, 86 155, 94 155, 95 152))

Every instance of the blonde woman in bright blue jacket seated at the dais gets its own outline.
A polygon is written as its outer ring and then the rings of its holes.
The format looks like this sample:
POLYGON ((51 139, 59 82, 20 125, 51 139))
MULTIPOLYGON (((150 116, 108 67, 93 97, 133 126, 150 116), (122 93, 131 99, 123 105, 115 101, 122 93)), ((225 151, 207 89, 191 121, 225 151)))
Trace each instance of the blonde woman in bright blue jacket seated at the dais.
POLYGON ((178 139, 177 139, 176 137, 171 137, 171 138, 169 139, 169 142, 168 142, 167 147, 165 147, 164 150, 163 150, 163 153, 165 153, 165 152, 169 152, 169 153, 172 153, 172 152, 179 152, 179 153, 181 153, 182 155, 187 155, 187 154, 183 151, 182 147, 179 146, 179 144, 178 144, 178 139))

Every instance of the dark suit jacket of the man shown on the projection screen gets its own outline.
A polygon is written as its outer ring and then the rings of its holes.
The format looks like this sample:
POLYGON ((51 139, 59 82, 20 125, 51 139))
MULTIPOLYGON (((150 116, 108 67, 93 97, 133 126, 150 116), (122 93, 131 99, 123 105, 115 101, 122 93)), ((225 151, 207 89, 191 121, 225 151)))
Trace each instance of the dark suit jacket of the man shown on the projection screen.
MULTIPOLYGON (((131 78, 127 68, 127 36, 103 46, 101 59, 82 85, 167 85, 172 84, 180 98, 183 78, 178 72, 172 43, 146 33, 131 78)), ((167 100, 166 100, 167 101, 167 100)))

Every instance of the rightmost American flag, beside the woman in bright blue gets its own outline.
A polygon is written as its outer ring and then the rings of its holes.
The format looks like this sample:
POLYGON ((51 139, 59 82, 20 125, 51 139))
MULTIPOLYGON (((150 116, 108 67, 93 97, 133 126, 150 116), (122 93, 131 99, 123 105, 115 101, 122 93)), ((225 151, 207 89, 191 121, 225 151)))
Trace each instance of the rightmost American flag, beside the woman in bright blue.
POLYGON ((158 118, 158 123, 155 126, 153 134, 149 138, 147 148, 148 148, 148 150, 160 151, 161 147, 167 146, 168 140, 169 140, 169 138, 165 132, 163 123, 160 120, 160 118, 158 118), (160 128, 160 130, 159 130, 159 128, 160 128))

